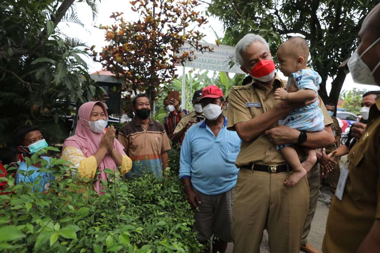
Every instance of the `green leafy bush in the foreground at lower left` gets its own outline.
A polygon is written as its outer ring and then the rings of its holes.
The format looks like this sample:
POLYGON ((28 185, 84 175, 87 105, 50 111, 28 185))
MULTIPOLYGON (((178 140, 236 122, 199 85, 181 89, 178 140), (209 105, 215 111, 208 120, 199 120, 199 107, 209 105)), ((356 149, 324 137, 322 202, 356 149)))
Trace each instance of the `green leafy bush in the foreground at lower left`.
POLYGON ((38 182, 14 185, 11 176, 0 178, 14 192, 0 195, 0 250, 149 253, 203 248, 192 232, 193 212, 175 172, 164 180, 144 174, 123 182, 114 180, 119 172, 107 169, 108 180, 102 181, 106 194, 98 197, 90 183, 67 172, 67 161, 51 158, 49 165, 37 155, 26 161, 40 161, 39 171, 50 170, 57 180, 49 193, 42 193, 31 191, 38 182), (79 193, 83 187, 87 192, 79 193))

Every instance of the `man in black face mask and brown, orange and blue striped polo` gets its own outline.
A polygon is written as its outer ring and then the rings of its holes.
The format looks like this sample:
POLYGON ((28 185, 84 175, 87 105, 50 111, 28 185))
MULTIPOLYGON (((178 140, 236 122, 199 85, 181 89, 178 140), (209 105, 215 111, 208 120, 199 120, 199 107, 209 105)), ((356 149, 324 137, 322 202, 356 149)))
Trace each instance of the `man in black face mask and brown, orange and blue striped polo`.
POLYGON ((153 171, 161 177, 168 167, 168 135, 164 126, 150 119, 150 100, 140 93, 132 99, 133 120, 120 128, 118 140, 133 164, 127 177, 139 176, 144 171, 153 171))

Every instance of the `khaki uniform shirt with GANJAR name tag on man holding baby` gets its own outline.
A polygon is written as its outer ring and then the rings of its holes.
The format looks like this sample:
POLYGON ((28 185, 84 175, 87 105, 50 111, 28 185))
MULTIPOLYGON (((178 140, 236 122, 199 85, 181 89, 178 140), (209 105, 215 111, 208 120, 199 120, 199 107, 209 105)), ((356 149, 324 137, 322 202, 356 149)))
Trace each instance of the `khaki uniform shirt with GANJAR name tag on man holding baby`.
MULTIPOLYGON (((228 104, 228 121, 227 128, 235 131, 235 124, 239 122, 247 122, 271 109, 281 100, 274 100, 274 91, 280 87, 286 87, 287 81, 281 80, 279 76, 275 75, 272 82, 272 90, 268 91, 263 85, 258 82, 244 86, 234 86, 230 91, 229 104, 228 104), (261 103, 260 107, 247 107, 245 103, 261 103)), ((328 114, 325 104, 320 100, 320 108, 324 116, 324 123, 330 125, 332 119, 328 114)), ((272 127, 278 126, 275 123, 272 127)), ((297 153, 302 152, 296 147, 297 153)), ((301 158, 301 157, 300 157, 301 158)), ((265 164, 265 165, 279 165, 287 164, 285 158, 280 152, 277 152, 276 145, 273 144, 269 138, 263 133, 256 139, 241 144, 239 155, 236 158, 236 166, 240 168, 248 164, 265 164)))

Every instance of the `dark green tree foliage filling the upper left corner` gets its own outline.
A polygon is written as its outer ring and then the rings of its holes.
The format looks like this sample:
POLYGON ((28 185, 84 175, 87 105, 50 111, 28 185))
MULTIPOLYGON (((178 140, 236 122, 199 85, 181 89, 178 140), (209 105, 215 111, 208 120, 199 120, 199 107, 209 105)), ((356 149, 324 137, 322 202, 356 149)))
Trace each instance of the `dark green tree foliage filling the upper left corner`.
MULTIPOLYGON (((0 123, 0 145, 10 141, 19 125, 64 132, 62 115, 92 100, 100 89, 93 85, 80 57, 88 55, 81 49, 84 44, 57 29, 60 21, 78 23, 73 2, 6 0, 0 4, 0 110, 6 119, 0 123)), ((96 8, 95 1, 86 2, 96 8)), ((54 143, 62 141, 61 135, 45 135, 54 143)))

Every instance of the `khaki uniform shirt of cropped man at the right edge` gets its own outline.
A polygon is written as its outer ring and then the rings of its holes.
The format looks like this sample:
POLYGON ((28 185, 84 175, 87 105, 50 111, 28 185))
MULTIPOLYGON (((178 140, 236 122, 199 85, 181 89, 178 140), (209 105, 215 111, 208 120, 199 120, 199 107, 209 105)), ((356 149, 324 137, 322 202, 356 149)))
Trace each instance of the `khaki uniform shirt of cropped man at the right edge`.
POLYGON ((349 176, 342 200, 332 199, 323 252, 356 252, 380 219, 380 99, 371 106, 366 131, 347 158, 349 176))

